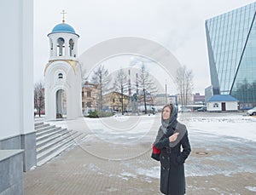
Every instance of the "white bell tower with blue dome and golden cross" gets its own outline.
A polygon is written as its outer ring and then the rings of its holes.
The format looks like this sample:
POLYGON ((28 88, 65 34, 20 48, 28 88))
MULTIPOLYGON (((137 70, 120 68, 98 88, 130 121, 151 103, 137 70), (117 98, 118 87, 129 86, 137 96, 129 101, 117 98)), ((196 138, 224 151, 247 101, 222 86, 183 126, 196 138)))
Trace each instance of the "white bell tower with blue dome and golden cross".
POLYGON ((45 118, 82 116, 82 75, 78 61, 79 35, 65 22, 48 34, 49 62, 44 68, 45 118))

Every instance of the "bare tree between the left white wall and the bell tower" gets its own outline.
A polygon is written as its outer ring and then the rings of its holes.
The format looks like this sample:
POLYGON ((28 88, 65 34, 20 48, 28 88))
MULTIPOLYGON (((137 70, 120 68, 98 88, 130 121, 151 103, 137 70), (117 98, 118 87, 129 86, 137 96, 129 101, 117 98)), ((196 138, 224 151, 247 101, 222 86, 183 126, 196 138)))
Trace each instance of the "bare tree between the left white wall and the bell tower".
POLYGON ((44 85, 42 82, 34 85, 34 108, 37 109, 39 117, 44 110, 44 85))

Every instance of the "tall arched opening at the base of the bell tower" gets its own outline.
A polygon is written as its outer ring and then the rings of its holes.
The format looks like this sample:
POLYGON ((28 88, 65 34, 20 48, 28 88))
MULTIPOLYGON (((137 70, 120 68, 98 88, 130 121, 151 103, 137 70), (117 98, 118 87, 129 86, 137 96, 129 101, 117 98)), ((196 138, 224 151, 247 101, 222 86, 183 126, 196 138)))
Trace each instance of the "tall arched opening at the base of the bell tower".
POLYGON ((67 116, 67 95, 63 89, 56 92, 56 118, 67 116))

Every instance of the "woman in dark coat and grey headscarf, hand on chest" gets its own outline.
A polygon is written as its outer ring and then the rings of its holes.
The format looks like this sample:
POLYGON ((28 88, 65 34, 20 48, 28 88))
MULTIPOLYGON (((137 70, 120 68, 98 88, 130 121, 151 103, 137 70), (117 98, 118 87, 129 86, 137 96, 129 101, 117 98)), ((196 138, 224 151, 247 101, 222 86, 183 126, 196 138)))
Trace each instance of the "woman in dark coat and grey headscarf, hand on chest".
POLYGON ((177 122, 175 106, 164 106, 161 122, 151 156, 160 160, 160 191, 168 195, 182 195, 185 193, 183 163, 191 152, 188 132, 185 125, 177 122))

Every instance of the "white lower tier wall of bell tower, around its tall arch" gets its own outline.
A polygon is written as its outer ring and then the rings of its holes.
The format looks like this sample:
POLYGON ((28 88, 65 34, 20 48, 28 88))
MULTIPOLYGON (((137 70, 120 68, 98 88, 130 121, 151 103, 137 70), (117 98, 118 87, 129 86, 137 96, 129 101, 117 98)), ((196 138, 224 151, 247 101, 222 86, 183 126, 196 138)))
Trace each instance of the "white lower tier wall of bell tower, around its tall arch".
POLYGON ((58 60, 50 64, 45 72, 45 118, 56 118, 56 92, 63 89, 67 95, 67 118, 82 116, 82 87, 79 65, 73 66, 64 60, 58 60), (59 79, 58 74, 63 78, 59 79))

